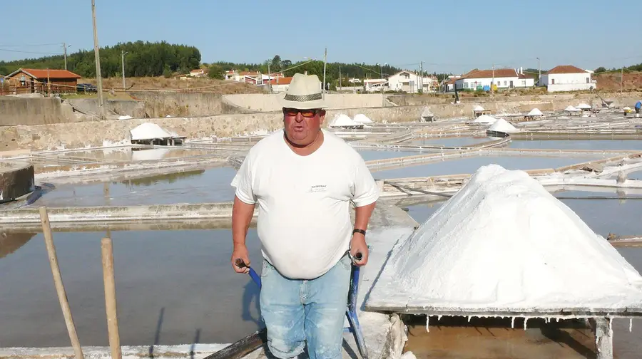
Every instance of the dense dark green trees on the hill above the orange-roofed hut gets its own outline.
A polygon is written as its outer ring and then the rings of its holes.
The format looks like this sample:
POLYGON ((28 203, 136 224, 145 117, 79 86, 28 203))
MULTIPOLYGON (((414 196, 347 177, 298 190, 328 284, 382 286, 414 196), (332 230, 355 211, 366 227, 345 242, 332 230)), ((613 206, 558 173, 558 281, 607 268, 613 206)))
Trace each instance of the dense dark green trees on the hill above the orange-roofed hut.
MULTIPOLYGON (((125 55, 125 76, 171 76, 173 73, 188 73, 199 68, 200 51, 194 46, 162 42, 128 42, 100 49, 101 76, 121 76, 121 51, 125 55)), ((41 58, 26 58, 16 61, 0 61, 0 74, 6 75, 19 68, 65 68, 62 55, 41 58)), ((96 77, 94 51, 77 51, 68 54, 67 70, 84 78, 96 77)))

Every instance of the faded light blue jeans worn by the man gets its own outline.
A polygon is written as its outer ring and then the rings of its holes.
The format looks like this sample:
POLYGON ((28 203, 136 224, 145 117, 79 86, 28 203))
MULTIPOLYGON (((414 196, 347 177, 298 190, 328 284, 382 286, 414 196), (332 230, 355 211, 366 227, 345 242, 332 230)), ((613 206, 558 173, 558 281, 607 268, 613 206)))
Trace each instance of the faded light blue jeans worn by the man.
POLYGON ((272 355, 295 358, 307 341, 310 359, 342 358, 350 266, 346 255, 316 279, 295 280, 263 260, 260 308, 272 355))

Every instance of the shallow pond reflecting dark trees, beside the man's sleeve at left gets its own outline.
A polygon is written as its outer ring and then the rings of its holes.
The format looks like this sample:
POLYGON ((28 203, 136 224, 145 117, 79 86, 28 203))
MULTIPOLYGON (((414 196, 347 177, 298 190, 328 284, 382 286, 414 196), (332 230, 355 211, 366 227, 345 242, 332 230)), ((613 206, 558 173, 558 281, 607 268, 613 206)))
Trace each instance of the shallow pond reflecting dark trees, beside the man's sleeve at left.
POLYGON ((235 174, 232 167, 216 167, 123 182, 63 184, 45 193, 33 205, 68 207, 229 202, 234 199, 234 188, 230 182, 235 174), (106 186, 108 196, 103 194, 106 186))

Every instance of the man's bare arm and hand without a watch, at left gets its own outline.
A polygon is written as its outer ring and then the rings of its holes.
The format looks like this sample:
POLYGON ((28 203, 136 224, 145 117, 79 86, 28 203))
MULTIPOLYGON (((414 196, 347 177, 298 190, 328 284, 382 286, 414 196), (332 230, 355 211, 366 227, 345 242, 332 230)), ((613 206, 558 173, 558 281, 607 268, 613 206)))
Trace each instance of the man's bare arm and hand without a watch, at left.
POLYGON ((248 235, 248 228, 252 217, 254 215, 255 204, 247 204, 238 197, 234 197, 234 204, 232 206, 232 267, 238 273, 246 273, 249 271, 247 267, 239 268, 235 265, 237 259, 241 259, 250 265, 250 256, 248 254, 248 247, 245 246, 245 237, 248 235))

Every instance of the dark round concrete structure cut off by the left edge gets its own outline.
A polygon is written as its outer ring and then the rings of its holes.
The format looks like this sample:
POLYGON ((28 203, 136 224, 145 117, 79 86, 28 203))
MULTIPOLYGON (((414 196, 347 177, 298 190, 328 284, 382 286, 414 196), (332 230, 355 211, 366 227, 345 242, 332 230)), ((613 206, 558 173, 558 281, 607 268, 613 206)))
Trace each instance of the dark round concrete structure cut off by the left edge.
POLYGON ((0 162, 0 203, 33 191, 33 165, 27 162, 0 162))

